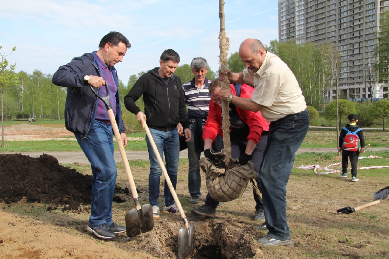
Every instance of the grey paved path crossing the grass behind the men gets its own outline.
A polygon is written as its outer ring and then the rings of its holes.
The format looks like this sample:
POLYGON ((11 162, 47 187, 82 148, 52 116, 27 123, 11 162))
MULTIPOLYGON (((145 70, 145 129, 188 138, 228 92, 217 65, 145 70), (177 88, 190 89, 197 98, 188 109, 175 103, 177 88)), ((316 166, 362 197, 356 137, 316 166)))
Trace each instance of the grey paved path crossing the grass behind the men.
MULTIPOLYGON (((389 147, 369 147, 369 151, 382 151, 382 150, 389 150, 389 147)), ((326 152, 336 152, 335 148, 317 148, 317 149, 299 149, 296 154, 301 154, 305 152, 320 152, 320 153, 326 153, 326 152)), ((89 164, 88 159, 86 159, 84 153, 82 151, 74 151, 74 152, 65 152, 65 151, 40 151, 40 152, 7 152, 12 154, 23 154, 28 155, 32 158, 38 158, 43 153, 48 154, 50 156, 54 156, 56 159, 58 159, 58 162, 61 164, 72 164, 74 162, 78 163, 86 163, 89 164)), ((4 153, 1 153, 4 154, 4 153)), ((128 160, 133 159, 149 159, 149 153, 147 151, 126 151, 126 155, 128 160)), ((203 156, 203 154, 202 154, 203 156)), ((114 157, 116 162, 122 162, 120 152, 115 151, 114 157)), ((187 150, 183 150, 180 152, 180 158, 188 158, 187 150)))

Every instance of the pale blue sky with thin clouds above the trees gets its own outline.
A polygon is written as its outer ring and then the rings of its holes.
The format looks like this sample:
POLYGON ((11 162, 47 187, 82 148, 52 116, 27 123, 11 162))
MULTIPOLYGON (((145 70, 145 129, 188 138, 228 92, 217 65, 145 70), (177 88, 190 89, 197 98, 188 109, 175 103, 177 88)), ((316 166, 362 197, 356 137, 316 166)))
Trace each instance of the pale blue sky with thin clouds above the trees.
MULTIPOLYGON (((180 64, 206 58, 219 67, 219 0, 0 0, 2 54, 15 71, 53 74, 72 58, 95 51, 110 31, 123 33, 132 47, 115 67, 124 84, 130 75, 159 66, 165 49, 180 64)), ((278 1, 225 0, 229 53, 247 38, 269 45, 278 40, 278 1)))

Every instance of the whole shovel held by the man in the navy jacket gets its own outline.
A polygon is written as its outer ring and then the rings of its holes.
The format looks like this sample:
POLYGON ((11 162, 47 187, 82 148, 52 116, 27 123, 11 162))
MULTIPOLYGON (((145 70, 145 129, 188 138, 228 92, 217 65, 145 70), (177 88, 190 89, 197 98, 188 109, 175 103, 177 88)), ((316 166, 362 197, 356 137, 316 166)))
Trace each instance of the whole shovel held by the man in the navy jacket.
POLYGON ((114 131, 117 146, 119 147, 120 155, 123 159, 124 169, 126 170, 128 181, 130 182, 130 189, 132 193, 132 197, 135 202, 135 207, 126 213, 125 222, 126 222, 126 233, 129 237, 134 237, 140 235, 141 233, 148 232, 154 228, 154 218, 152 217, 152 206, 150 204, 140 205, 137 188, 135 187, 135 182, 132 177, 130 164, 128 163, 128 159, 126 156, 126 151, 124 150, 123 142, 120 137, 119 128, 117 127, 115 115, 112 111, 112 108, 109 103, 109 88, 107 81, 105 81, 105 89, 107 89, 107 95, 105 97, 96 93, 93 86, 89 85, 93 91, 93 93, 103 101, 105 107, 107 108, 107 112, 109 115, 109 120, 112 125, 112 129, 114 131))

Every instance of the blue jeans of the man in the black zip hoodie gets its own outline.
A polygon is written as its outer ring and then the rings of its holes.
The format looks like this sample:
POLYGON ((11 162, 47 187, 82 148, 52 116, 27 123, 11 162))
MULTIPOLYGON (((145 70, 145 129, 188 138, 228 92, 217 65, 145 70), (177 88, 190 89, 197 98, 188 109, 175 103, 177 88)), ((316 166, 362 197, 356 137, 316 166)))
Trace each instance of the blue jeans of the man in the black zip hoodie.
MULTIPOLYGON (((180 159, 179 138, 177 128, 172 131, 161 131, 157 129, 151 129, 150 133, 152 139, 157 146, 159 155, 163 159, 163 153, 165 154, 166 171, 168 172, 170 181, 175 189, 177 185, 177 172, 178 162, 180 159)), ((150 160, 150 175, 149 175, 149 201, 151 206, 159 207, 159 180, 161 178, 162 169, 159 166, 158 159, 154 154, 149 138, 146 135, 147 148, 149 149, 150 160)), ((165 180, 165 206, 169 207, 174 204, 172 193, 170 193, 169 187, 165 180)))

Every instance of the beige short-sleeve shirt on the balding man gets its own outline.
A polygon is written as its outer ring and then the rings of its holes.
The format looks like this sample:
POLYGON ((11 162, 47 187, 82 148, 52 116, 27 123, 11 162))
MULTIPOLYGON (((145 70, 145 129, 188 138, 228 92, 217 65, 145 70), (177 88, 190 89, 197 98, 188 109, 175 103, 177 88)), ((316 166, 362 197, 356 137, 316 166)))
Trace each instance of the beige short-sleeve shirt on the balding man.
POLYGON ((243 70, 243 79, 254 85, 251 100, 264 106, 261 114, 267 121, 277 121, 307 108, 292 70, 269 51, 266 51, 265 61, 256 73, 247 68, 243 70))

